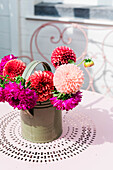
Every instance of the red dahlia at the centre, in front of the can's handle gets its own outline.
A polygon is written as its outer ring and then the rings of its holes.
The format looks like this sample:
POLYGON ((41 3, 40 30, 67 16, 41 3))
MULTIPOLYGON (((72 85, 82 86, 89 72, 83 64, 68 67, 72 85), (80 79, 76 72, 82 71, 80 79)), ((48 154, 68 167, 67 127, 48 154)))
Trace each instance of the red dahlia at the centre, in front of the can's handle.
POLYGON ((53 73, 50 71, 38 71, 29 76, 28 81, 31 82, 31 87, 38 95, 37 101, 46 101, 52 96, 51 90, 53 87, 53 73))

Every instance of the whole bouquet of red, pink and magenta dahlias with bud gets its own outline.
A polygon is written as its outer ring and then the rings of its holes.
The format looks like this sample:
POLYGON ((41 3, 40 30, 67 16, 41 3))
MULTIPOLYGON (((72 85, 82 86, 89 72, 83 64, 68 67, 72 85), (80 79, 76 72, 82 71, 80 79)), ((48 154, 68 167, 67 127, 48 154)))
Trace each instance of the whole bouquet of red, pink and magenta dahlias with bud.
MULTIPOLYGON (((51 62, 56 68, 54 74, 51 70, 39 70, 25 79, 25 63, 12 54, 5 56, 0 63, 0 101, 19 110, 30 110, 37 102, 47 100, 58 110, 76 107, 82 98, 80 88, 84 81, 83 71, 75 64, 76 54, 61 46, 52 52, 51 62)), ((82 62, 85 67, 94 64, 91 59, 82 62)))

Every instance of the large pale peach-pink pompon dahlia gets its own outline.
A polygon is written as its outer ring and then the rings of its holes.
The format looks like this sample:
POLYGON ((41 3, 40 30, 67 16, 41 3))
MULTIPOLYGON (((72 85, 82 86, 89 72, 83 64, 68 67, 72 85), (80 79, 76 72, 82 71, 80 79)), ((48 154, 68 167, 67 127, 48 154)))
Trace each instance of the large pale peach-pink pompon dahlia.
POLYGON ((53 82, 57 91, 61 93, 76 93, 83 84, 83 71, 74 64, 59 66, 54 74, 53 82))

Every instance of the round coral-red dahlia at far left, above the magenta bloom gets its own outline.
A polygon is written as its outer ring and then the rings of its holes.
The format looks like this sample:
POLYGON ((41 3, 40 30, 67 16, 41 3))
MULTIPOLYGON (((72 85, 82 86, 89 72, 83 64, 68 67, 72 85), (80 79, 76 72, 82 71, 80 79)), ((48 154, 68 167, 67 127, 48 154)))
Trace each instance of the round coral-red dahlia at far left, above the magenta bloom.
POLYGON ((26 66, 21 60, 10 60, 8 61, 3 69, 3 75, 9 75, 9 78, 14 79, 16 76, 22 76, 26 66))

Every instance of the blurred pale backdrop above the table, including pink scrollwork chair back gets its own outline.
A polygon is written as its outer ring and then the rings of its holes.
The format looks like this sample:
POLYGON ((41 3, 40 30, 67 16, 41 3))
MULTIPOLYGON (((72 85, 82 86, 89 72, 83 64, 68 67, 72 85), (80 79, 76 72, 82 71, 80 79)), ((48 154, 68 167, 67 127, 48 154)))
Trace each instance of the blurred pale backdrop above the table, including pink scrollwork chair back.
POLYGON ((95 62, 81 65, 83 89, 113 97, 113 0, 0 0, 0 59, 14 54, 51 64, 62 45, 74 50, 77 63, 95 62))

